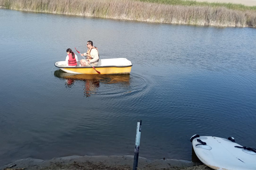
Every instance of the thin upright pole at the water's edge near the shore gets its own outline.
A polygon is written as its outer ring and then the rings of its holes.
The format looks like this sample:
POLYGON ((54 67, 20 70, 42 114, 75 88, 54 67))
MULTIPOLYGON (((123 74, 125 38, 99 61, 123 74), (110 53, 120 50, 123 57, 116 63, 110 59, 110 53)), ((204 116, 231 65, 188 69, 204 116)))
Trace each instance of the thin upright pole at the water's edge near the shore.
POLYGON ((137 122, 137 131, 135 139, 135 149, 134 149, 134 159, 133 159, 133 170, 137 170, 138 159, 139 159, 139 149, 140 149, 140 133, 141 133, 141 120, 137 122))

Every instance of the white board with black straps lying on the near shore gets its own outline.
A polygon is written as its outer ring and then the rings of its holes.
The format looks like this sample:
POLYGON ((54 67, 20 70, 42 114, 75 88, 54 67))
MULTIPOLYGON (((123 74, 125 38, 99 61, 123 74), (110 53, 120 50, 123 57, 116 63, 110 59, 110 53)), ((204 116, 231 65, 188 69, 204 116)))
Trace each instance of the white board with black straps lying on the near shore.
POLYGON ((255 170, 256 152, 253 151, 255 149, 236 148, 235 146, 243 146, 237 144, 234 138, 228 139, 193 135, 190 141, 196 156, 206 166, 225 170, 255 170))

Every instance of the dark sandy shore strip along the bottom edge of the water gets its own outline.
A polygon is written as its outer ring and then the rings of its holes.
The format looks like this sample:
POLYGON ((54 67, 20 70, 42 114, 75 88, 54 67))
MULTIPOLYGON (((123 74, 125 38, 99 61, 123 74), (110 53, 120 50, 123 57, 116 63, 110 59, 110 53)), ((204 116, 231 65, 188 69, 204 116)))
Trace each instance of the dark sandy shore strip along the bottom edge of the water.
MULTIPOLYGON (((7 170, 31 169, 116 169, 128 170, 133 167, 133 156, 69 156, 53 158, 51 160, 26 158, 0 167, 7 170)), ((199 163, 187 160, 157 159, 150 160, 139 157, 138 170, 140 169, 165 169, 165 170, 201 170, 211 169, 199 163)))

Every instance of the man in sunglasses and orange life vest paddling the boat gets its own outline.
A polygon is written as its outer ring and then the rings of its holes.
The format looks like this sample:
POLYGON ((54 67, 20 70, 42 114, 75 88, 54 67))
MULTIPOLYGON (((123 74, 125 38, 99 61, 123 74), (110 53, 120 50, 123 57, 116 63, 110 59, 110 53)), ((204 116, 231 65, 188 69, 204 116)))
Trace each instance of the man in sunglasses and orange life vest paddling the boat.
POLYGON ((89 63, 92 66, 97 66, 99 62, 99 52, 98 48, 93 46, 92 41, 87 41, 87 53, 81 54, 81 56, 87 56, 86 59, 80 60, 81 66, 89 66, 89 63))

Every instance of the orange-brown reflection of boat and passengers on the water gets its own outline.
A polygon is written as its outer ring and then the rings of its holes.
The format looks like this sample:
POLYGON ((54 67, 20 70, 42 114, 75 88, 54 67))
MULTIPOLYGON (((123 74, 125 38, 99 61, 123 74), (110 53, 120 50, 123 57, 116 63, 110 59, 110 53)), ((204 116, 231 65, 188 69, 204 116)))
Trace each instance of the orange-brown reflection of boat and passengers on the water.
POLYGON ((84 96, 90 97, 95 94, 100 84, 124 84, 126 87, 130 85, 130 74, 73 74, 62 70, 54 71, 57 78, 66 79, 67 88, 73 87, 76 81, 84 81, 84 96))

